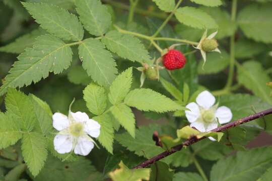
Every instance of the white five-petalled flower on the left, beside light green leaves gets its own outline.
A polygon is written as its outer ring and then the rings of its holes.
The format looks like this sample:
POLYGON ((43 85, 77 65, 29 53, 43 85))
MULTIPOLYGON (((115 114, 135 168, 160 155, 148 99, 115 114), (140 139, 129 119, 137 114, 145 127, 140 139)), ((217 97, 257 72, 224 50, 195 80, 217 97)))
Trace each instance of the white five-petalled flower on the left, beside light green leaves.
POLYGON ((54 138, 54 148, 58 153, 69 153, 86 156, 94 148, 94 140, 100 134, 100 124, 86 113, 69 111, 69 116, 61 113, 53 115, 53 127, 60 131, 54 138), (90 137, 91 136, 91 137, 90 137))

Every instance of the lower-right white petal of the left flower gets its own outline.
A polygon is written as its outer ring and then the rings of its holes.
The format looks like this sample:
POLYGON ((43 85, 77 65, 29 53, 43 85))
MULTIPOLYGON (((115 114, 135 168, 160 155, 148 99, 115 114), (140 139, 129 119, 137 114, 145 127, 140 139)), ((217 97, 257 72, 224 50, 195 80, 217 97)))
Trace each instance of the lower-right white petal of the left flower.
POLYGON ((86 156, 94 148, 94 143, 88 139, 88 136, 82 136, 78 138, 74 152, 79 155, 86 156))

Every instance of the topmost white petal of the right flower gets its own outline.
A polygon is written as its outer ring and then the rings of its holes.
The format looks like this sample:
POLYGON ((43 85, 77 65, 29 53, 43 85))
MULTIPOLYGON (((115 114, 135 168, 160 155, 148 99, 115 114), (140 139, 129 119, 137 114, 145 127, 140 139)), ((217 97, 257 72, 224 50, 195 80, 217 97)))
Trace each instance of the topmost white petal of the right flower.
POLYGON ((205 109, 211 108, 215 101, 215 97, 209 91, 201 92, 196 98, 196 103, 205 109))

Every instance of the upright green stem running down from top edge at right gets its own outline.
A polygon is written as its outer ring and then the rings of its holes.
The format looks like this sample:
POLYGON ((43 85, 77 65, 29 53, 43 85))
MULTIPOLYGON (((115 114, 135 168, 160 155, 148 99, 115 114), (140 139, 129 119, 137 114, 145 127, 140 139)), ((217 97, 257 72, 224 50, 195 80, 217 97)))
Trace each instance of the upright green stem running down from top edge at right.
MULTIPOLYGON (((237 11, 237 0, 233 0, 232 8, 231 8, 231 21, 233 23, 236 20, 236 11, 237 11)), ((229 88, 233 82, 234 63, 235 63, 235 32, 230 38, 230 67, 229 67, 229 76, 228 76, 226 88, 229 88)))

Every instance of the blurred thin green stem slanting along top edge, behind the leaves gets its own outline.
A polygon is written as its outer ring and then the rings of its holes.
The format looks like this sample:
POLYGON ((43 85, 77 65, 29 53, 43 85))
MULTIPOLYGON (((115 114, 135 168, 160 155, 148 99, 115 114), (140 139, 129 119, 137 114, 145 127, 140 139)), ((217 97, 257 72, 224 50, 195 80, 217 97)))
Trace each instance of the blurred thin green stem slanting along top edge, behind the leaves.
MULTIPOLYGON (((112 5, 118 9, 121 9, 121 10, 128 10, 130 9, 130 7, 128 5, 125 5, 125 4, 122 4, 122 3, 119 3, 119 2, 115 2, 115 1, 112 1, 112 0, 102 0, 103 2, 109 4, 109 5, 112 5)), ((165 19, 167 18, 167 14, 166 13, 156 13, 156 12, 152 12, 152 11, 149 11, 149 10, 143 10, 143 9, 140 9, 140 8, 134 8, 134 12, 135 13, 138 13, 138 14, 141 14, 141 15, 144 15, 144 16, 152 16, 152 17, 157 17, 157 18, 160 18, 160 19, 165 19)))

